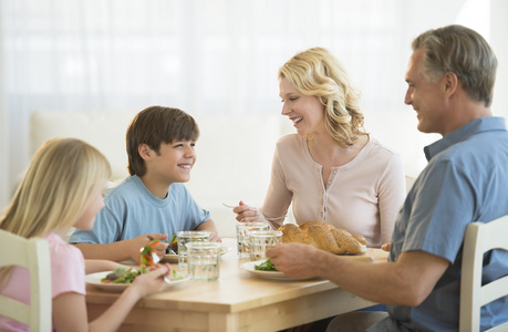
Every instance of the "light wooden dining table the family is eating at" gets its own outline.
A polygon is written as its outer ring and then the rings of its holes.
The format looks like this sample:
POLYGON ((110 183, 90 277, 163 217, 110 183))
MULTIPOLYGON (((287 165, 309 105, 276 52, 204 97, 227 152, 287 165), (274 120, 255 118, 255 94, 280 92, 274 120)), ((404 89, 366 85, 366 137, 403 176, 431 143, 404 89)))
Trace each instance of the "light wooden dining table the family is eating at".
MULTIPOLYGON (((218 280, 188 280, 144 297, 118 331, 280 331, 376 304, 329 280, 271 279, 246 270, 242 264, 250 260, 238 258, 236 239, 222 241, 232 250, 220 258, 218 280)), ((383 262, 387 252, 367 248, 362 259, 383 262)), ((172 267, 179 269, 178 263, 172 267)), ((86 284, 89 319, 101 315, 118 297, 86 284)))

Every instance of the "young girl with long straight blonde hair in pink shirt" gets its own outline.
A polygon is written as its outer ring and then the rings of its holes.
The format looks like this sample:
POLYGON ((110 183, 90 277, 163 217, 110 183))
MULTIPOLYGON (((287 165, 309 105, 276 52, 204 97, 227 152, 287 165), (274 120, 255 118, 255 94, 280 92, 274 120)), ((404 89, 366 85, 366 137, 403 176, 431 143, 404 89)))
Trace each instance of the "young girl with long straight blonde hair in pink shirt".
MULTIPOLYGON (((92 228, 104 206, 103 194, 110 164, 91 145, 73 138, 48 141, 34 155, 14 198, 0 219, 0 229, 31 238, 48 239, 52 272, 52 312, 55 331, 115 331, 133 305, 144 295, 164 287, 170 267, 160 266, 135 279, 118 300, 89 323, 84 272, 120 267, 108 261, 86 261, 81 251, 58 234, 70 227, 92 228), (86 266, 86 267, 85 267, 86 266)), ((28 271, 20 267, 0 270, 0 292, 29 303, 28 271)), ((0 317, 1 331, 28 331, 25 325, 0 317)))

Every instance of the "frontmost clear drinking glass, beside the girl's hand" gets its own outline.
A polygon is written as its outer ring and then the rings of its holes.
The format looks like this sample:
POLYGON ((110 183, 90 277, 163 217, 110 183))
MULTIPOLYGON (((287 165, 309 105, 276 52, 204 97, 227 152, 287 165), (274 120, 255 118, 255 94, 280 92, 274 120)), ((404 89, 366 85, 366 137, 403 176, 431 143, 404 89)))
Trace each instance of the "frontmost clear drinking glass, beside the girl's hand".
POLYGON ((219 279, 220 242, 187 242, 187 270, 191 280, 214 281, 219 279))

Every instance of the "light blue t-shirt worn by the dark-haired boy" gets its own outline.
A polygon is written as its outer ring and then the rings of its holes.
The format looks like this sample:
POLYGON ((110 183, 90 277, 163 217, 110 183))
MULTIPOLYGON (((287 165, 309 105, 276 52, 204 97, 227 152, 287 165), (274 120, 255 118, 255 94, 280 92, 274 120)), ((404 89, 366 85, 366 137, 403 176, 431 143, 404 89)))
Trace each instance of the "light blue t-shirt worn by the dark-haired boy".
POLYGON ((151 232, 167 234, 170 239, 210 219, 183 184, 170 185, 166 198, 159 199, 136 175, 108 189, 104 204, 93 228, 76 230, 69 242, 111 243, 151 232))

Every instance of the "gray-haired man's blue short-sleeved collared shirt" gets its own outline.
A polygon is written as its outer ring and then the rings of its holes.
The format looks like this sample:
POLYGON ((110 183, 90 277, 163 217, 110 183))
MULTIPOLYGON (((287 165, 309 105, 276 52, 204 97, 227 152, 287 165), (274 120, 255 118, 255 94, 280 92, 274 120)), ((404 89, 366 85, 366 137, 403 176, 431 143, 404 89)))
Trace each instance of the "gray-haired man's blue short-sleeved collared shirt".
MULTIPOLYGON (((505 120, 481 117, 427 146, 428 165, 395 222, 390 260, 423 250, 450 264, 418 307, 386 305, 390 317, 367 331, 457 331, 466 226, 508 214, 508 133, 505 120)), ((484 260, 483 283, 508 274, 508 252, 484 260)), ((481 309, 481 330, 508 321, 508 298, 481 309)))

